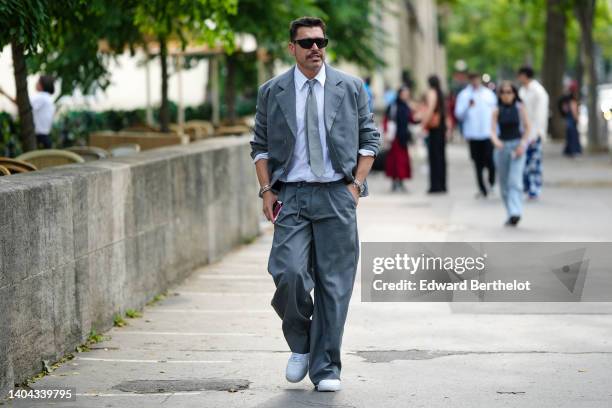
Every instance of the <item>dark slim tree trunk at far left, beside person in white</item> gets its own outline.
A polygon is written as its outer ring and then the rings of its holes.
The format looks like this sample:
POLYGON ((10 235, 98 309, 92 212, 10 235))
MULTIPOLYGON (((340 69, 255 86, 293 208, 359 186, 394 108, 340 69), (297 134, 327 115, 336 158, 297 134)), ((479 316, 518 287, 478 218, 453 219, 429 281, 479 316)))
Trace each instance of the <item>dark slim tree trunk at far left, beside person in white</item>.
POLYGON ((28 96, 28 71, 23 46, 11 43, 13 53, 13 69, 15 71, 15 88, 17 89, 17 109, 19 111, 19 127, 21 132, 21 145, 24 151, 36 149, 36 133, 34 131, 34 116, 32 105, 28 96))

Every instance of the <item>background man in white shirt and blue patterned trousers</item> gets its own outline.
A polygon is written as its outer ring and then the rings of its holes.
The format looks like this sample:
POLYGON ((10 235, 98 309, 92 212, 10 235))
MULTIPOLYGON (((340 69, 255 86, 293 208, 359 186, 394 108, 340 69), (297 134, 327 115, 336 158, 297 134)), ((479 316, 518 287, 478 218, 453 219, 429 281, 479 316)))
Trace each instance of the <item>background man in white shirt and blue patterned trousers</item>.
POLYGON ((535 200, 542 192, 542 140, 548 134, 548 93, 534 79, 531 67, 521 67, 518 80, 521 83, 519 96, 531 123, 523 183, 529 199, 535 200))

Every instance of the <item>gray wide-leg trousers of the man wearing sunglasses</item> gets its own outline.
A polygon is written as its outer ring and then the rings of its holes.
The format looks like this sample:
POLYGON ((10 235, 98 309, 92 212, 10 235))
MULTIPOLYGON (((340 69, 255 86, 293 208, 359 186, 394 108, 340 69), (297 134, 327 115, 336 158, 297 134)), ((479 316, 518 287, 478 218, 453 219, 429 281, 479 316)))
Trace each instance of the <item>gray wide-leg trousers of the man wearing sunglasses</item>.
POLYGON ((340 379, 340 346, 359 258, 356 205, 344 181, 286 183, 268 271, 272 306, 294 353, 310 353, 310 379, 340 379), (314 302, 310 292, 314 289, 314 302))

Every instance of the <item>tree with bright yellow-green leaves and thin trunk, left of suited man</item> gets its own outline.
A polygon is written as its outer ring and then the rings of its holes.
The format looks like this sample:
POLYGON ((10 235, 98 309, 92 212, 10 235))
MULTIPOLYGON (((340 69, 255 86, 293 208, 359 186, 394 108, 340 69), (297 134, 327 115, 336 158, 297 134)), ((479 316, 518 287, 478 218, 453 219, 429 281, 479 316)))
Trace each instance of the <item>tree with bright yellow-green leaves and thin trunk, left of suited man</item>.
POLYGON ((160 130, 169 130, 168 42, 178 40, 184 48, 191 41, 228 48, 233 32, 228 17, 236 14, 237 0, 137 0, 134 21, 145 38, 159 43, 161 63, 160 130))

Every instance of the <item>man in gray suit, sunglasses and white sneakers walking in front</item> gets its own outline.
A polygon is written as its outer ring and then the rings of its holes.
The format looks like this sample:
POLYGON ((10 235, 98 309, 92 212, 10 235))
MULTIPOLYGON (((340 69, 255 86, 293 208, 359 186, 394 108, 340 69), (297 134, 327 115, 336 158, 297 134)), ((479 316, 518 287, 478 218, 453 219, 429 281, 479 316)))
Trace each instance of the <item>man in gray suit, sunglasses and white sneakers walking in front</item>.
POLYGON ((274 223, 268 271, 292 352, 286 378, 309 372, 318 391, 338 391, 359 258, 355 213, 380 134, 363 82, 325 64, 325 23, 303 17, 289 35, 296 65, 259 88, 251 156, 274 223))

